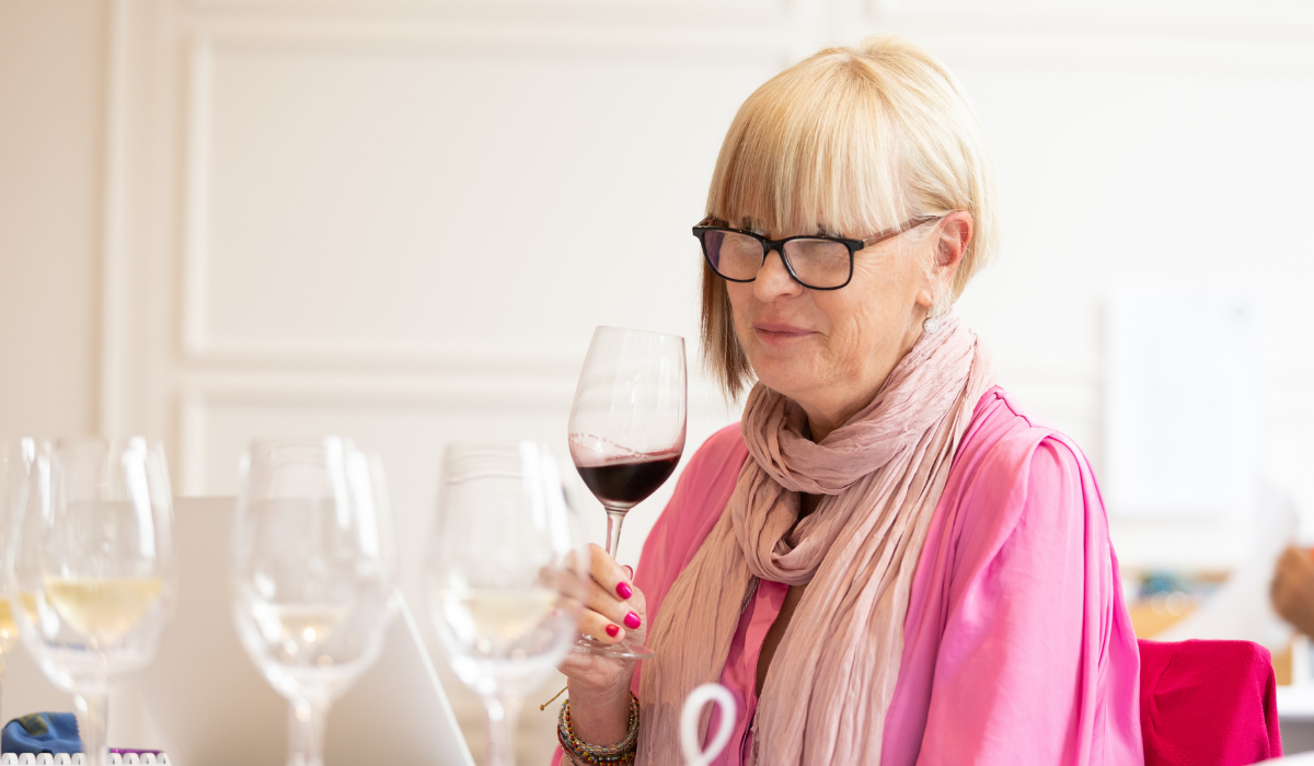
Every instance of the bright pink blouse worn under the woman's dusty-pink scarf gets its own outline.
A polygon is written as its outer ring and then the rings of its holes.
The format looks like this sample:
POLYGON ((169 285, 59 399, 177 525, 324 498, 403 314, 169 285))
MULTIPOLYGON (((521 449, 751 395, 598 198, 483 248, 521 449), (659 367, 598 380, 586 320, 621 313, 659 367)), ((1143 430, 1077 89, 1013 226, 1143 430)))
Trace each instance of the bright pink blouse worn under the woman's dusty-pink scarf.
MULTIPOLYGON (((649 620, 666 618, 662 599, 725 508, 746 459, 731 426, 685 468, 635 573, 649 620)), ((748 762, 758 656, 787 590, 761 582, 740 618, 720 678, 740 712, 717 766, 748 762)), ((913 575, 882 763, 1142 765, 1138 673, 1085 456, 991 389, 954 456, 913 575)), ((714 716, 708 731, 717 725, 714 716)), ((553 763, 558 758, 560 750, 553 763)))

